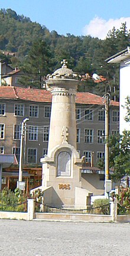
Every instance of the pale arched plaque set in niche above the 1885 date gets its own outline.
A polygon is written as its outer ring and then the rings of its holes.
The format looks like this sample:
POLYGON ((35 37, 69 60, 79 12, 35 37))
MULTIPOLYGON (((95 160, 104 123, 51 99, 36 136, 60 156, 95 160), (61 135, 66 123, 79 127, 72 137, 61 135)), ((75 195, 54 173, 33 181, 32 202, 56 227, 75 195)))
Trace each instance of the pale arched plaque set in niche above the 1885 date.
POLYGON ((71 156, 63 151, 58 154, 57 176, 70 176, 71 174, 71 156))

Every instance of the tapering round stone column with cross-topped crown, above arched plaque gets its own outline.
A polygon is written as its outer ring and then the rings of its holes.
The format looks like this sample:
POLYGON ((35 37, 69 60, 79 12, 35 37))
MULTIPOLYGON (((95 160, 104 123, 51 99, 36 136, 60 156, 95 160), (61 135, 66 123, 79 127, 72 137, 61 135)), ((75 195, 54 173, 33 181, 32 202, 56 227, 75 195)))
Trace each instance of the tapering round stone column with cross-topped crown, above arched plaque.
POLYGON ((47 89, 52 94, 48 155, 51 150, 67 141, 76 149, 76 106, 75 96, 78 80, 77 74, 67 69, 63 60, 61 69, 47 77, 47 89))

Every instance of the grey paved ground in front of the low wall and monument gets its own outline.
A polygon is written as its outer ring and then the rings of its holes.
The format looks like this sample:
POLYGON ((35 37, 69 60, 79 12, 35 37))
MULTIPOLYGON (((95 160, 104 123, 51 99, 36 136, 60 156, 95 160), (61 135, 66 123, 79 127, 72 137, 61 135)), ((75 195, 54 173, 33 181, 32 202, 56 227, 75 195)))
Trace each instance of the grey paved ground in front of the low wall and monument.
POLYGON ((0 219, 0 256, 129 256, 130 223, 0 219))

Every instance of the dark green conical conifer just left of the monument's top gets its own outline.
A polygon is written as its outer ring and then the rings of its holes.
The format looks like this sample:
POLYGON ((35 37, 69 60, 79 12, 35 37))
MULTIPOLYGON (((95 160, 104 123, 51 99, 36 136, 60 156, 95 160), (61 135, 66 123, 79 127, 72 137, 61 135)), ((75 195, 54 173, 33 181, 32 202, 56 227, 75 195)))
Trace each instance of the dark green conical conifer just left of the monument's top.
POLYGON ((22 85, 41 88, 42 79, 52 71, 50 47, 43 40, 34 41, 22 66, 25 75, 19 79, 22 85))

